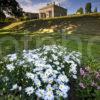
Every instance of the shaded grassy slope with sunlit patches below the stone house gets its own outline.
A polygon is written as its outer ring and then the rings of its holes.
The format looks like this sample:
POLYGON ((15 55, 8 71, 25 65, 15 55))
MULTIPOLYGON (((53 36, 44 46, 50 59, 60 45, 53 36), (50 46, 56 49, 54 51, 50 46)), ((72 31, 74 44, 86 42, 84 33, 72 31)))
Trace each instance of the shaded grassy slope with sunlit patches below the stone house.
POLYGON ((65 29, 66 33, 100 34, 100 13, 75 15, 51 19, 39 19, 13 23, 2 30, 28 31, 30 34, 43 29, 65 29))

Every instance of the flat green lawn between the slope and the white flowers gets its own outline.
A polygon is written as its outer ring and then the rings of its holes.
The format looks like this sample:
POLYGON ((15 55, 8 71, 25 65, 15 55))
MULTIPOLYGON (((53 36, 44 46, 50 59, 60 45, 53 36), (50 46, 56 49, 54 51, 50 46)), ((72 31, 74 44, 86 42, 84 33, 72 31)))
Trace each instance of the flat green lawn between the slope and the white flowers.
POLYGON ((58 44, 82 53, 85 62, 88 58, 100 61, 100 36, 59 33, 33 35, 0 35, 0 57, 22 50, 39 48, 43 45, 58 44))

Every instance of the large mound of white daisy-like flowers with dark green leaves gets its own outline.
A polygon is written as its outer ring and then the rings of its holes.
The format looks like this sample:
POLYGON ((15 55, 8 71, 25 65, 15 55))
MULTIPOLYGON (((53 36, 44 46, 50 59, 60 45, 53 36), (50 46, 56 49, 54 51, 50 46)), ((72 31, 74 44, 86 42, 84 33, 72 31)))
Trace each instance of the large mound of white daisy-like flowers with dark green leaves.
POLYGON ((67 98, 68 82, 77 78, 80 56, 56 45, 7 55, 0 62, 0 88, 3 92, 17 91, 44 100, 67 98))

